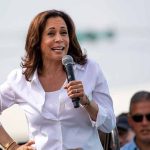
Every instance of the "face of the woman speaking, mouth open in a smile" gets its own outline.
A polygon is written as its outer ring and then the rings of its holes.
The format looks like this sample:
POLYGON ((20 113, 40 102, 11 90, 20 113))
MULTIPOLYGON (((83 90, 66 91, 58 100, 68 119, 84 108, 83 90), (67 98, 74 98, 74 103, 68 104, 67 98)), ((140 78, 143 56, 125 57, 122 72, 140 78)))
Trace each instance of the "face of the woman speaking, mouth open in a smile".
POLYGON ((65 21, 61 17, 49 18, 41 40, 43 61, 60 61, 68 49, 69 35, 65 21))

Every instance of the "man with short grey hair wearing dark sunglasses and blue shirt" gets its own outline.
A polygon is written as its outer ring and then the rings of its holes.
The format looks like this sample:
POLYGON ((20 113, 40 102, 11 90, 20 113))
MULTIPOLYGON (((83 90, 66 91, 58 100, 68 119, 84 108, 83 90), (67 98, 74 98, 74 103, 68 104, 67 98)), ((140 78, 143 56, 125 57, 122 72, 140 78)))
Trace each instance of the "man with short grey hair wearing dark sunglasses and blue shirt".
POLYGON ((150 150, 150 92, 139 91, 130 101, 128 122, 135 137, 121 150, 150 150))

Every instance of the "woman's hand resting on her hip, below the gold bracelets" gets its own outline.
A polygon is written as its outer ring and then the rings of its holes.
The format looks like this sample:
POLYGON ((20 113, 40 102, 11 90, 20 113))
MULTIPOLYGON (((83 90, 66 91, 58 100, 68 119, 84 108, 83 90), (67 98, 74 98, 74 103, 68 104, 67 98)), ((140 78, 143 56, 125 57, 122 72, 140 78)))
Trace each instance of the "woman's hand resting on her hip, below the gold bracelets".
POLYGON ((14 147, 15 149, 12 150, 35 150, 35 148, 32 147, 32 144, 35 144, 35 142, 30 140, 24 145, 21 145, 19 147, 17 146, 17 148, 14 147))

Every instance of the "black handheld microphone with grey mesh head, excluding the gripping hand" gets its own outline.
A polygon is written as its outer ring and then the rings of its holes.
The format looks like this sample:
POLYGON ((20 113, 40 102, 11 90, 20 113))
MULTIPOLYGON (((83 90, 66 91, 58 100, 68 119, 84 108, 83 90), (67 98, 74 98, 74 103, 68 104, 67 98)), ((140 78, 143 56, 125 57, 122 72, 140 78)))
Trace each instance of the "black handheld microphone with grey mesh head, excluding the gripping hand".
MULTIPOLYGON (((73 71, 73 64, 74 64, 73 58, 70 55, 65 55, 62 58, 62 64, 65 67, 68 82, 75 80, 73 71)), ((80 101, 79 97, 72 98, 74 108, 78 108, 80 106, 79 101, 80 101)))

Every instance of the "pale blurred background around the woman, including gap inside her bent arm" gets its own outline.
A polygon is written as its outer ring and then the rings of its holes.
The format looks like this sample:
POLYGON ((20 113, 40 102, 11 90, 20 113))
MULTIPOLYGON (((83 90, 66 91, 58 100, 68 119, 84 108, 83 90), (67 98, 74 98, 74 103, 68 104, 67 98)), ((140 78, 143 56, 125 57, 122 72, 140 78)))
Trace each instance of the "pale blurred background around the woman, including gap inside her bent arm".
MULTIPOLYGON (((1 0, 0 84, 20 67, 28 26, 43 10, 59 9, 75 22, 81 47, 95 59, 108 81, 114 111, 128 111, 131 96, 150 90, 149 0, 1 0)), ((17 141, 25 141, 25 116, 13 106, 2 124, 17 141)))

